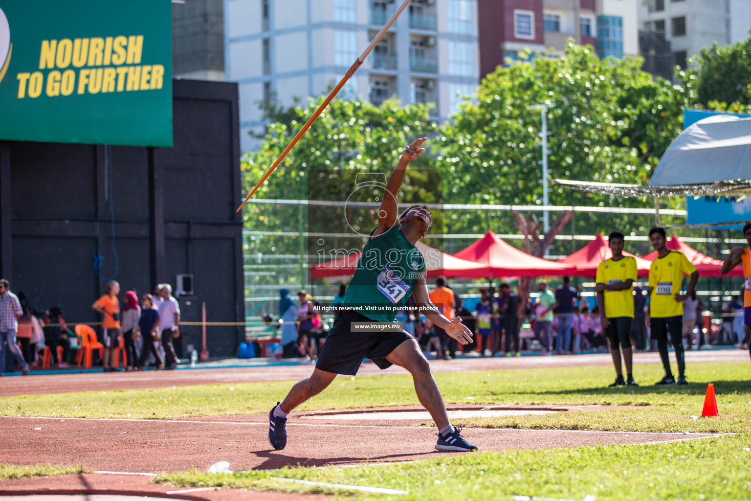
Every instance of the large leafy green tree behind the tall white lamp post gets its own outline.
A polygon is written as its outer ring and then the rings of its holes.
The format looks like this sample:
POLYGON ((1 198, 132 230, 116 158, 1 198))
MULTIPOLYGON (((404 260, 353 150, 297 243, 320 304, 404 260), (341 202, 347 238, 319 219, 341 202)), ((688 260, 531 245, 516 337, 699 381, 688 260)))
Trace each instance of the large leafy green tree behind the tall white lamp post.
MULTIPOLYGON (((499 67, 483 80, 476 101, 462 104, 442 128, 437 162, 445 170, 448 200, 541 204, 541 116, 530 107, 543 102, 554 105, 547 112, 551 178, 647 183, 680 133, 686 89, 653 80, 640 68, 641 59, 601 60, 592 47, 572 43, 560 58, 499 67)), ((639 199, 560 186, 550 193, 550 204, 644 207, 639 199)), ((623 219, 611 218, 624 231, 644 231, 644 222, 623 219)), ((602 220, 580 218, 576 231, 602 231, 596 228, 602 220)), ((514 228, 508 215, 499 224, 514 228)))

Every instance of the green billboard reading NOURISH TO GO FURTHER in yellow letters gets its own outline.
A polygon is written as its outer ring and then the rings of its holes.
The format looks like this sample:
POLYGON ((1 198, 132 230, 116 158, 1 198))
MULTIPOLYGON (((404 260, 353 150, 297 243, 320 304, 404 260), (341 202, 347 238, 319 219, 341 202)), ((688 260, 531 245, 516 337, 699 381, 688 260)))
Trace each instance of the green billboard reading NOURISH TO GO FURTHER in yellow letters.
POLYGON ((0 140, 172 146, 170 0, 0 0, 0 140))

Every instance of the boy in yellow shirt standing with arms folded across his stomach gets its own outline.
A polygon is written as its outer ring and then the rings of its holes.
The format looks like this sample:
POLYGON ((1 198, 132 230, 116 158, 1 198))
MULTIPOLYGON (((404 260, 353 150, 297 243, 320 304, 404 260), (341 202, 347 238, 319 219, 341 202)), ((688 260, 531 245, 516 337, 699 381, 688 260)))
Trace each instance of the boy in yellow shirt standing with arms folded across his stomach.
POLYGON ((616 379, 611 386, 638 386, 632 374, 633 352, 631 349, 631 323, 634 320, 634 281, 636 259, 623 255, 623 233, 611 231, 608 247, 613 257, 605 259, 597 267, 595 291, 600 310, 600 324, 608 337, 616 379), (620 349, 619 349, 620 345, 620 349), (626 362, 628 379, 623 379, 620 355, 626 362))

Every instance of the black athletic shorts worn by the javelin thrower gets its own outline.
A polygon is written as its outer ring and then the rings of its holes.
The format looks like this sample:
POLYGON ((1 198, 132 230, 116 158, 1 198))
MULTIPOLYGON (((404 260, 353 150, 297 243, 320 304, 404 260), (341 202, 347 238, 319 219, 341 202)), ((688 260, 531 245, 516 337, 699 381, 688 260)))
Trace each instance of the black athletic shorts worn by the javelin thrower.
POLYGON ((360 313, 352 310, 339 312, 333 327, 326 337, 326 343, 318 355, 316 369, 325 370, 327 373, 346 374, 354 376, 360 369, 360 364, 365 358, 369 358, 373 364, 381 369, 391 367, 391 362, 386 357, 400 344, 407 340, 414 340, 412 334, 400 332, 352 332, 350 322, 369 321, 360 313))

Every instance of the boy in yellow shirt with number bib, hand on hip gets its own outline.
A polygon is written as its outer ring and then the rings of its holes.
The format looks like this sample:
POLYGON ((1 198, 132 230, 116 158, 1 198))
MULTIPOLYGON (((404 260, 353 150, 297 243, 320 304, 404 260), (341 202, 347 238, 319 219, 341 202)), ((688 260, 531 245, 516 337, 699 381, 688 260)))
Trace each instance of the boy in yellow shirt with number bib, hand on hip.
POLYGON ((699 272, 689 262, 683 252, 671 251, 665 247, 665 230, 652 228, 650 243, 657 251, 657 257, 650 266, 650 303, 647 306, 647 327, 652 329, 652 338, 657 340, 659 357, 665 367, 665 376, 657 385, 688 385, 686 381, 686 361, 683 354, 683 301, 696 288, 699 272), (683 275, 690 275, 686 294, 680 294, 683 275), (678 362, 678 379, 673 378, 668 358, 668 333, 678 362))

